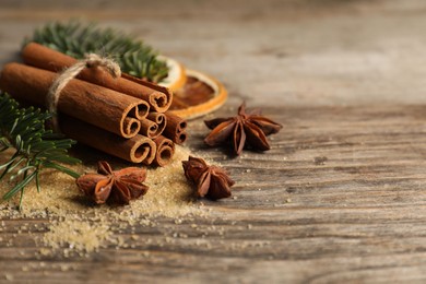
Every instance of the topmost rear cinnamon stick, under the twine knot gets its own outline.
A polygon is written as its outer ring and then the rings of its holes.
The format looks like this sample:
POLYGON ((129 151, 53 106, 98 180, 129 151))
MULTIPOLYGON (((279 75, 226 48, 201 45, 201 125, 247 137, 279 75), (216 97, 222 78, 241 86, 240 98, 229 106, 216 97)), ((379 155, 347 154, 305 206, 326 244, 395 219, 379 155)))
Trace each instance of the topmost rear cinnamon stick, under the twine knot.
MULTIPOLYGON (((24 47, 22 58, 26 64, 54 72, 60 72, 76 62, 76 59, 70 56, 36 43, 29 43, 24 47)), ((114 79, 102 68, 85 69, 78 78, 143 99, 150 105, 151 110, 158 113, 166 111, 173 100, 173 94, 167 87, 158 86, 128 74, 114 79)))

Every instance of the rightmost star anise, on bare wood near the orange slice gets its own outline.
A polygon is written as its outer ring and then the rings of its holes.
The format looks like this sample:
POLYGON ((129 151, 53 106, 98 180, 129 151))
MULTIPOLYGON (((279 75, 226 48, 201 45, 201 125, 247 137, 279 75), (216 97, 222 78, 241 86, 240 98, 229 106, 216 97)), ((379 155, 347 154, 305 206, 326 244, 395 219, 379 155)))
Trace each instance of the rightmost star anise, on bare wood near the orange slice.
POLYGON ((261 116, 259 110, 246 113, 245 104, 238 108, 236 117, 215 118, 204 123, 213 129, 204 142, 210 146, 232 143, 236 155, 241 154, 245 146, 260 151, 270 150, 267 135, 276 133, 282 128, 281 125, 261 116))

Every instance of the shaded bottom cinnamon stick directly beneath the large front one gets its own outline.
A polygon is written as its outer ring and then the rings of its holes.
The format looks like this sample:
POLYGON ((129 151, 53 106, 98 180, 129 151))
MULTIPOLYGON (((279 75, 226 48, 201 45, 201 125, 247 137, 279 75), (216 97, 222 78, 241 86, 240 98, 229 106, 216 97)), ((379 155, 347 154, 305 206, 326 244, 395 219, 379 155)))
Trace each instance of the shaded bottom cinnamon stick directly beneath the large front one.
POLYGON ((155 158, 156 144, 146 137, 125 139, 67 115, 60 116, 59 125, 67 137, 113 156, 147 165, 155 158))

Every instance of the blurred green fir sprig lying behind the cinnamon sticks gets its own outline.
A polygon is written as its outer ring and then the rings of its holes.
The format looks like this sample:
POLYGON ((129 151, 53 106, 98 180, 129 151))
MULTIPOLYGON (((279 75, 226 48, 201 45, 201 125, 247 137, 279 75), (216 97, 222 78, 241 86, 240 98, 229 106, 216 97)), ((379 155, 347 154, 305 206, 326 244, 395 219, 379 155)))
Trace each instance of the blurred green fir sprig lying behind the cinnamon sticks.
POLYGON ((83 25, 76 21, 52 22, 36 29, 25 43, 35 42, 71 57, 81 59, 95 52, 113 57, 121 71, 130 75, 158 83, 168 74, 166 62, 140 39, 113 28, 95 24, 83 25))

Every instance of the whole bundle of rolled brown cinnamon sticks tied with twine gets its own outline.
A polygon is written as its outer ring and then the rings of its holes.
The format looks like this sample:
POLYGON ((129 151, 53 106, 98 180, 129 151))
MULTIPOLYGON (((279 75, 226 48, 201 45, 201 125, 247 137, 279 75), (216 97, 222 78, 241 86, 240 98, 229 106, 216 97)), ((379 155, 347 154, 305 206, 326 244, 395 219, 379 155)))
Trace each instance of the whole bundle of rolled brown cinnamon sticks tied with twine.
MULTIPOLYGON (((58 72, 76 59, 29 43, 24 63, 9 63, 0 73, 0 90, 19 102, 47 106, 58 72)), ((61 91, 57 109, 67 137, 132 163, 164 166, 175 143, 187 139, 187 122, 168 111, 171 92, 128 74, 114 79, 102 68, 86 68, 61 91)))

